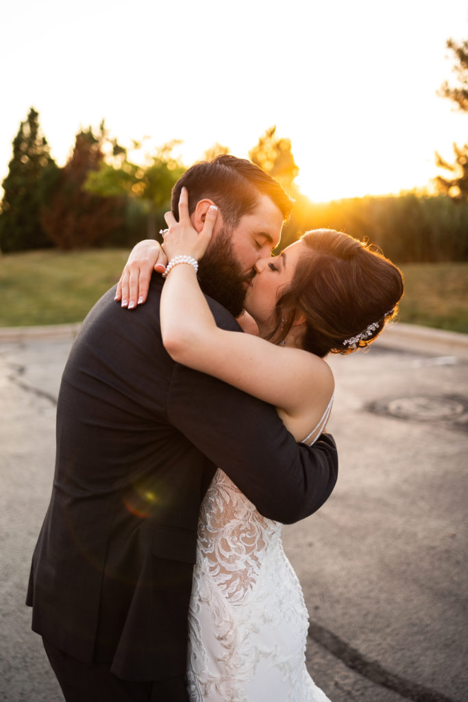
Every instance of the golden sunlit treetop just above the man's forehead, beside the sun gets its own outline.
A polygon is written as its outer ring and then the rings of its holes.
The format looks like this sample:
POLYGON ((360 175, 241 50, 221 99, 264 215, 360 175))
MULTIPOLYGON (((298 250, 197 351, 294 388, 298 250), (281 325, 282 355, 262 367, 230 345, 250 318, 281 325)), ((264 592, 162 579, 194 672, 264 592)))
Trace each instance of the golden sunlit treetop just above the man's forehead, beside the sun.
POLYGON ((248 157, 263 171, 278 181, 283 190, 290 193, 294 179, 299 173, 295 164, 289 139, 276 136, 276 126, 272 126, 258 140, 258 144, 248 152, 248 157))

